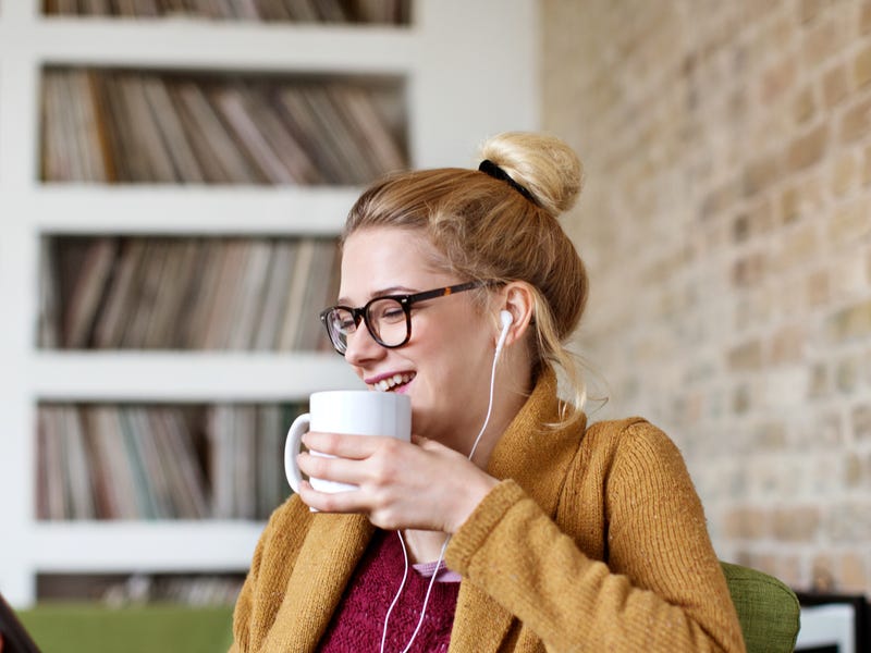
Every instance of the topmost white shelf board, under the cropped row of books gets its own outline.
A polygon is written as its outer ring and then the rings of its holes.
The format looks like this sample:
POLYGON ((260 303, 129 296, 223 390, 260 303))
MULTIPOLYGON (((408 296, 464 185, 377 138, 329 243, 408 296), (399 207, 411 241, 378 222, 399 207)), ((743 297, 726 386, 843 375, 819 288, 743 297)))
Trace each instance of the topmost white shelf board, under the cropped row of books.
POLYGON ((64 65, 395 74, 420 58, 413 29, 384 26, 46 17, 0 38, 0 52, 64 65))

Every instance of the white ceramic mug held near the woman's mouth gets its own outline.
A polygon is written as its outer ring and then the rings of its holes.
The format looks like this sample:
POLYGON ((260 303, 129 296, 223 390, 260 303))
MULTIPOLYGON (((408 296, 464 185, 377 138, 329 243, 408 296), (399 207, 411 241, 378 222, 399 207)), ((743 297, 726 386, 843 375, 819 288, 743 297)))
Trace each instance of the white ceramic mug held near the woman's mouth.
MULTIPOLYGON (((299 492, 303 481, 296 456, 302 438, 308 431, 389 435, 406 442, 412 439, 412 401, 406 395, 369 390, 316 392, 309 397, 308 410, 293 420, 284 442, 284 473, 294 492, 299 492)), ((356 489, 355 485, 323 479, 311 478, 308 481, 319 492, 356 489)))

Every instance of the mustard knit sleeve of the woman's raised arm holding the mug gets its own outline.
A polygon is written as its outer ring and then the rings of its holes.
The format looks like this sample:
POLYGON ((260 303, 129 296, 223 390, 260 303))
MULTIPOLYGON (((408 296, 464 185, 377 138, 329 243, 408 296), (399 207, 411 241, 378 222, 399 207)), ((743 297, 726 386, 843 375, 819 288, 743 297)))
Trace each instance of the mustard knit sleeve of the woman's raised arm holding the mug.
MULTIPOLYGON (((606 563, 585 555, 506 480, 454 534, 447 565, 549 651, 744 651, 701 504, 674 444, 647 422, 627 427, 604 483, 606 563)), ((582 514, 576 519, 584 523, 582 514)))

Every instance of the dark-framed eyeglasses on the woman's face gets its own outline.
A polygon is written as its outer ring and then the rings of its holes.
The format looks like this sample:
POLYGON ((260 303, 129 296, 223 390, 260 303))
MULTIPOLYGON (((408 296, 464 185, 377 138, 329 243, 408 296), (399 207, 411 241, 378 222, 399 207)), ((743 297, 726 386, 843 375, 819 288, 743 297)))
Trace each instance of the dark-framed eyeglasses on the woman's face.
POLYGON ((327 335, 330 336, 333 347, 342 356, 347 352, 347 336, 357 331, 360 320, 366 323, 366 329, 375 342, 388 349, 395 349, 412 337, 413 304, 470 291, 486 283, 470 281, 414 295, 385 295, 370 299, 360 308, 331 306, 321 311, 320 320, 327 328, 327 335))

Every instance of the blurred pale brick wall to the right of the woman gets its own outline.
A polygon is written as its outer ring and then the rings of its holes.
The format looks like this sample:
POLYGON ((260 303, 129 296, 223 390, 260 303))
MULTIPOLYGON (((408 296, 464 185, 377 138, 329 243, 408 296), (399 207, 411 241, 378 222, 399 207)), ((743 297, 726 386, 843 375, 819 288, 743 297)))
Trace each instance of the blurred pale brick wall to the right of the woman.
POLYGON ((871 2, 542 8, 593 419, 672 435, 724 559, 871 594, 871 2))

